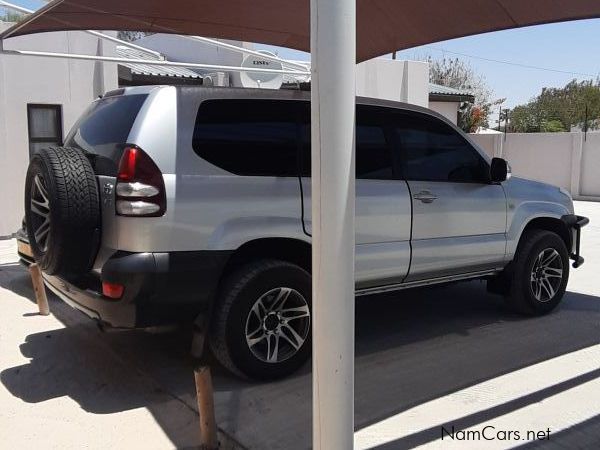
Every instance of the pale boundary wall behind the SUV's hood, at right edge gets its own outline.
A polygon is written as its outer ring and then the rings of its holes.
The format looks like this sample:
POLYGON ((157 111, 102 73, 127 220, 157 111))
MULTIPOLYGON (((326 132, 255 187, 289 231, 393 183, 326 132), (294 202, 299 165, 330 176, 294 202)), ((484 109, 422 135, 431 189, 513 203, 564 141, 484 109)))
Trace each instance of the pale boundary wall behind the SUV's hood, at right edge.
POLYGON ((578 199, 600 200, 600 132, 472 134, 515 175, 563 187, 578 199))

